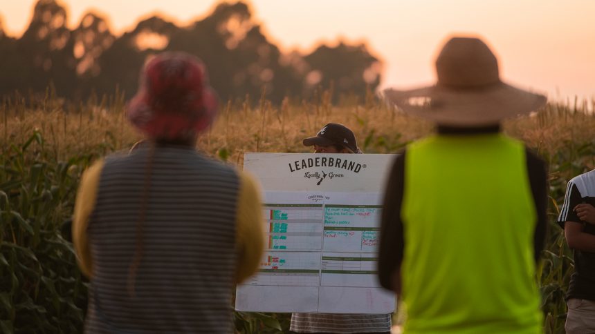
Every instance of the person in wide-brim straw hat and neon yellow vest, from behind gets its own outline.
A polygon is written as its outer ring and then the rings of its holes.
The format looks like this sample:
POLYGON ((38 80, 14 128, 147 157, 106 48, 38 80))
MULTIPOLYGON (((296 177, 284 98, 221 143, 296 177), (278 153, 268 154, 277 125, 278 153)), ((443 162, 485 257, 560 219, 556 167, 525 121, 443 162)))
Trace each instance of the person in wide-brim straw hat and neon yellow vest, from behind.
POLYGON ((449 39, 436 70, 434 86, 385 90, 404 112, 437 124, 437 134, 408 145, 390 171, 381 285, 401 299, 404 333, 541 333, 535 275, 547 173, 500 124, 546 98, 502 82, 478 38, 449 39))

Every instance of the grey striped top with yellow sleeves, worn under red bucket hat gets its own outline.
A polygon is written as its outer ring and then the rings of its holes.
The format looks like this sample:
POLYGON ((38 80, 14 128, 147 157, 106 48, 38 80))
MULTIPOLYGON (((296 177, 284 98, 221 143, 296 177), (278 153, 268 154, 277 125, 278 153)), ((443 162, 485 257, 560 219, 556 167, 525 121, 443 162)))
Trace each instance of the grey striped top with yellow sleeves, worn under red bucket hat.
POLYGON ((91 276, 85 330, 232 333, 233 288, 262 252, 255 184, 190 148, 157 146, 131 279, 149 154, 108 157, 83 177, 73 239, 91 276))

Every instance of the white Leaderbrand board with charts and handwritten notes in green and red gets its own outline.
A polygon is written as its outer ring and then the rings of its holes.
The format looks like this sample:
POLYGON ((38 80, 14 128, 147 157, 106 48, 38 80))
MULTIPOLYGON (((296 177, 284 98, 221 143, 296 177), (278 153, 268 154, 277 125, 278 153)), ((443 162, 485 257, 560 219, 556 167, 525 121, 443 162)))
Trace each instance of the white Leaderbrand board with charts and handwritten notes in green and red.
POLYGON ((376 278, 385 178, 394 155, 246 153, 264 189, 267 239, 236 309, 392 313, 376 278))

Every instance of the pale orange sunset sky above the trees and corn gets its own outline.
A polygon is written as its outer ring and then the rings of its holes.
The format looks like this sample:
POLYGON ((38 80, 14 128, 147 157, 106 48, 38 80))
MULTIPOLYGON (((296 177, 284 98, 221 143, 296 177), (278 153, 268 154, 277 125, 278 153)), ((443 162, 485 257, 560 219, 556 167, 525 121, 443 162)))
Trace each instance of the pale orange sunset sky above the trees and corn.
MULTIPOLYGON (((0 0, 8 35, 26 28, 36 0, 0 0)), ((200 19, 218 1, 62 0, 72 27, 92 9, 121 34, 159 12, 176 23, 200 19)), ((321 41, 366 41, 385 63, 381 88, 434 81, 446 36, 484 37, 500 57, 501 77, 550 99, 595 98, 594 0, 252 0, 253 13, 284 50, 321 41)))

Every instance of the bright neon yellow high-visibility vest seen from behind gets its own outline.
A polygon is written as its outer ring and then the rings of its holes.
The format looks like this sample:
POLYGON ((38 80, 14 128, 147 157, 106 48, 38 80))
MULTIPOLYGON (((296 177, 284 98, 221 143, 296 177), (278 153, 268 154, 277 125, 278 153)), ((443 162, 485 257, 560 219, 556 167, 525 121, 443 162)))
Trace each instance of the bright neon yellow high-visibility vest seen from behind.
POLYGON ((437 135, 405 156, 405 333, 541 333, 525 148, 437 135))

